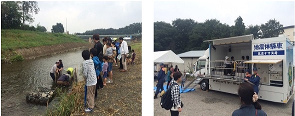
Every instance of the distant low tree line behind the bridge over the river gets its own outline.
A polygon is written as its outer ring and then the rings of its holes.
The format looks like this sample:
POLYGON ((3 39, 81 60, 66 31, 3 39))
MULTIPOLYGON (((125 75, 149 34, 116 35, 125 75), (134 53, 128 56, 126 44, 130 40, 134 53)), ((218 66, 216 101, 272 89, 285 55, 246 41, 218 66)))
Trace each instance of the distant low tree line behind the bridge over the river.
POLYGON ((141 33, 141 22, 136 22, 129 24, 125 27, 121 27, 118 29, 114 28, 98 28, 98 29, 93 29, 93 30, 86 30, 85 32, 82 33, 75 33, 76 35, 92 35, 95 33, 103 34, 103 35, 108 35, 108 34, 135 34, 135 33, 141 33))

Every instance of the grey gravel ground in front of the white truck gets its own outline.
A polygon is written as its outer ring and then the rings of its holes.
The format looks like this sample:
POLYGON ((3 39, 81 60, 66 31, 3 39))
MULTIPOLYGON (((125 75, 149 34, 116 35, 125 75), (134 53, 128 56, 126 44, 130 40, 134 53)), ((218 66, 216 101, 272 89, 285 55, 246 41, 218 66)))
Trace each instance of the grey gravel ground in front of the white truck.
MULTIPOLYGON (((154 86, 155 84, 154 82, 154 86)), ((195 88, 194 91, 180 94, 184 106, 179 115, 231 115, 240 106, 240 99, 236 94, 215 90, 202 91, 199 85, 195 88)), ((258 102, 267 115, 283 116, 291 115, 293 100, 294 96, 286 104, 259 99, 258 102)), ((170 111, 161 108, 159 102, 160 97, 158 94, 158 98, 154 99, 153 103, 154 115, 170 115, 170 111)))

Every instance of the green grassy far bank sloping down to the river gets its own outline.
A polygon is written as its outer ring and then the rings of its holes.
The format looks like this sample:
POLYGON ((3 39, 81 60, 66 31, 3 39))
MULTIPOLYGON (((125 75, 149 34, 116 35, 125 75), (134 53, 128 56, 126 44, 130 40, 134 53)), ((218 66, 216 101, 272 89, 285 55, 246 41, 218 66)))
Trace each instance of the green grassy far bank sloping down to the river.
POLYGON ((1 29, 1 63, 50 55, 88 45, 83 39, 71 34, 1 29))

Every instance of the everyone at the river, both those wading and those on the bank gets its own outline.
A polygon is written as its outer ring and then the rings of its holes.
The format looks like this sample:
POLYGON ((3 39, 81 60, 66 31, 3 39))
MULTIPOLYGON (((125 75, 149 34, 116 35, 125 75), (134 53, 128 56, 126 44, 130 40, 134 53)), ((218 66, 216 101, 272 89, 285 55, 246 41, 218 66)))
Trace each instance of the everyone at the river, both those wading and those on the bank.
MULTIPOLYGON (((86 81, 85 91, 88 107, 86 112, 93 111, 94 99, 97 98, 97 90, 113 83, 113 66, 118 66, 119 71, 126 72, 127 64, 135 64, 134 59, 136 53, 134 49, 123 39, 104 37, 102 43, 99 40, 99 34, 92 36, 94 46, 89 50, 83 50, 81 55, 85 60, 82 64, 83 77, 86 81), (90 57, 91 56, 91 57, 90 57)), ((89 38, 89 42, 92 39, 89 38)), ((58 85, 69 85, 70 77, 72 76, 73 68, 69 67, 66 73, 61 74, 63 69, 62 60, 59 59, 54 63, 50 70, 50 76, 58 85), (55 74, 59 75, 55 80, 55 74)))

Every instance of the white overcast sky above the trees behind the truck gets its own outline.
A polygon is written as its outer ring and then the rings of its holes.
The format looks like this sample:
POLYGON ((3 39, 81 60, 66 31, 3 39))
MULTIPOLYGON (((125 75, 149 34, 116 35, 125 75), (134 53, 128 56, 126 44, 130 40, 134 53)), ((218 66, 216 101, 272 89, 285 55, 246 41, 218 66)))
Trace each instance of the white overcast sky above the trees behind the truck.
POLYGON ((176 18, 197 22, 216 18, 234 25, 241 16, 245 26, 275 18, 283 26, 294 25, 294 1, 154 1, 154 21, 172 23, 176 18))

